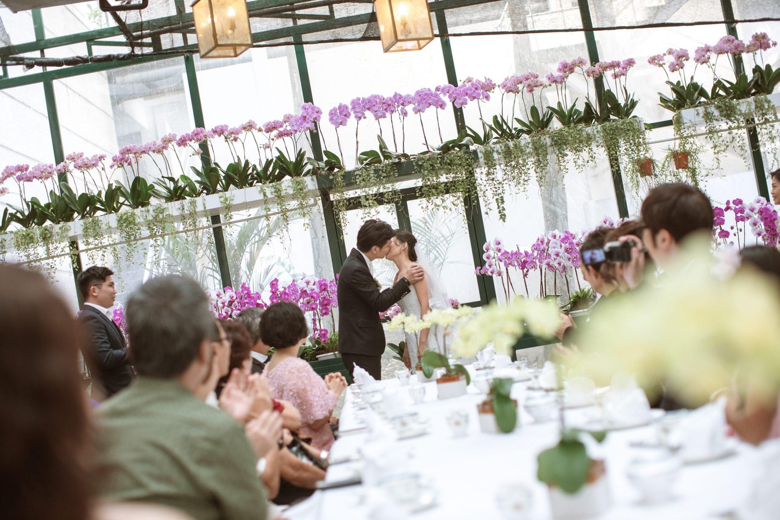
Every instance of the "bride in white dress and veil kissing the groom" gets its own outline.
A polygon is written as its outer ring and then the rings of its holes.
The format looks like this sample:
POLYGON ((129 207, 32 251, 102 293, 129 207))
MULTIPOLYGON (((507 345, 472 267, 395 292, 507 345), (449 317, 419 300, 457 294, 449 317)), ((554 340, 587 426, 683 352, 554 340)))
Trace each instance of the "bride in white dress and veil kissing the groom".
MULTIPOLYGON (((424 317, 431 309, 449 309, 452 304, 443 290, 438 274, 433 271, 431 265, 423 253, 418 251, 417 239, 408 231, 399 229, 395 232, 395 238, 390 242, 390 252, 386 258, 391 260, 399 272, 403 272, 410 264, 418 264, 425 271, 425 278, 414 284, 414 290, 404 296, 398 305, 407 316, 424 317)), ((398 273, 395 274, 395 281, 398 273)), ((403 353, 403 363, 412 372, 415 371, 417 361, 426 350, 444 352, 444 331, 434 325, 431 328, 420 331, 418 343, 415 334, 404 331, 406 349, 403 353)))

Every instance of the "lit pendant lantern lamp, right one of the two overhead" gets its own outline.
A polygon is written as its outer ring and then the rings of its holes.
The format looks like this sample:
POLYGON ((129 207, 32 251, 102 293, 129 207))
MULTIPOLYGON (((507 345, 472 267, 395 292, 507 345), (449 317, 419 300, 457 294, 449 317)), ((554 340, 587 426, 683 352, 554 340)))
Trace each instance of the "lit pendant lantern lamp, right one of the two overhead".
POLYGON ((374 0, 385 52, 419 51, 434 39, 427 0, 374 0))

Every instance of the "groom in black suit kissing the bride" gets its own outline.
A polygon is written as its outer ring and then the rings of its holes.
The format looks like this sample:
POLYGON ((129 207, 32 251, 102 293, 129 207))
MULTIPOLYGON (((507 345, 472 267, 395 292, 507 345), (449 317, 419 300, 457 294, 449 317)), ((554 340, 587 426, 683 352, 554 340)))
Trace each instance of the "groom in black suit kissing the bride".
POLYGON ((422 267, 412 264, 399 273, 392 288, 380 292, 371 261, 385 258, 395 230, 384 221, 366 221, 357 232, 353 249, 339 273, 339 352, 349 375, 360 366, 376 380, 381 379, 381 356, 385 352, 385 330, 379 313, 409 294, 424 277, 422 267))

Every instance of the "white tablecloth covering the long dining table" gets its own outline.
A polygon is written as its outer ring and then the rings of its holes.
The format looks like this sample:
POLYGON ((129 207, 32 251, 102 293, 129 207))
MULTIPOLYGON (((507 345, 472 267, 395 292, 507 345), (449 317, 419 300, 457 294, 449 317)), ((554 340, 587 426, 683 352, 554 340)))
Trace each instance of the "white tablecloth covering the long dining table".
MULTIPOLYGON (((397 388, 411 405, 405 387, 398 380, 385 380, 387 389, 397 388)), ((477 389, 469 387, 469 393, 449 400, 439 401, 436 384, 425 384, 426 397, 413 410, 430 419, 430 433, 407 440, 385 441, 404 460, 408 469, 420 472, 433 480, 438 504, 410 518, 427 520, 442 518, 500 519, 496 492, 503 483, 524 483, 534 493, 534 513, 529 518, 551 518, 547 486, 536 479, 537 455, 558 441, 558 422, 535 424, 526 412, 521 412, 516 431, 509 434, 481 433, 477 418, 477 403, 484 399, 477 389), (469 433, 466 437, 453 438, 445 422, 452 410, 465 410, 470 414, 469 433)), ((528 392, 525 384, 512 387, 512 397, 523 402, 528 392)), ((347 391, 346 403, 340 419, 341 430, 360 428, 353 394, 347 391)), ((566 411, 566 417, 576 419, 576 414, 587 414, 589 409, 566 411)), ((593 409, 590 409, 593 412, 593 409)), ((612 508, 599 518, 626 520, 658 518, 718 518, 725 511, 733 511, 747 497, 757 468, 757 450, 739 444, 736 455, 718 461, 685 465, 674 487, 674 498, 664 504, 647 505, 640 502, 640 493, 626 477, 626 467, 631 458, 642 449, 629 443, 654 440, 656 426, 608 433, 601 445, 605 458, 608 483, 612 491, 612 508)), ((332 448, 332 458, 353 455, 371 441, 365 430, 342 435, 332 448)), ((327 480, 340 480, 360 474, 363 462, 349 462, 332 466, 327 480)), ((319 491, 306 504, 285 513, 290 520, 363 520, 369 517, 363 486, 349 486, 319 491)), ((778 512, 780 518, 780 512, 778 512)))

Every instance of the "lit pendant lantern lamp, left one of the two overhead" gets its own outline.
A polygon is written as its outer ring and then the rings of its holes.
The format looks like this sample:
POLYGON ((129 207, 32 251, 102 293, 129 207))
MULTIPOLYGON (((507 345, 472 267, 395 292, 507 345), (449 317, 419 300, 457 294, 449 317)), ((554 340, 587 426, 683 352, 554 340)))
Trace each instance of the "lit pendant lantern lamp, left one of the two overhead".
POLYGON ((246 0, 195 0, 200 58, 236 58, 252 47, 246 0))

